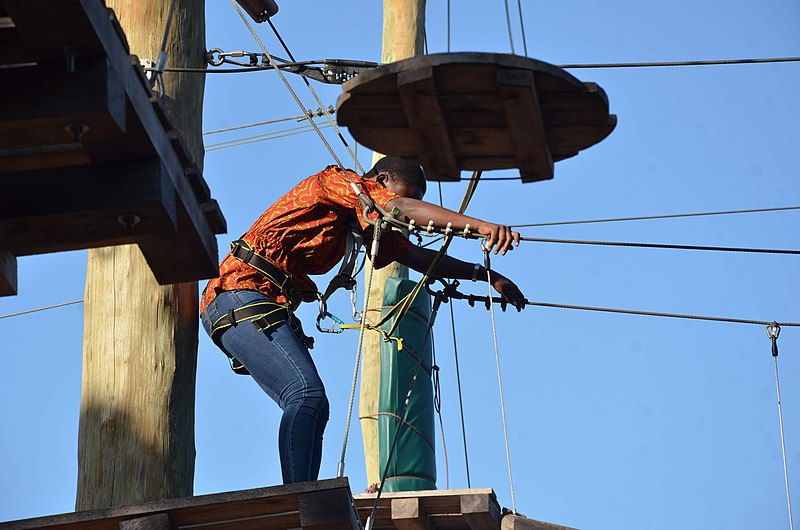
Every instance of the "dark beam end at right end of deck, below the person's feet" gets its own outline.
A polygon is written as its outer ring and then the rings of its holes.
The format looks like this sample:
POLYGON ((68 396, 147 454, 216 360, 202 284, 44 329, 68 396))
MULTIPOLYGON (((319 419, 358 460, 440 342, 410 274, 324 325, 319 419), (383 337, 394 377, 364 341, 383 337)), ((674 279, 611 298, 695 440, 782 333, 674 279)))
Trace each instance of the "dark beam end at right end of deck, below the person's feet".
POLYGON ((298 495, 300 525, 310 530, 359 530, 349 490, 310 491, 298 495))

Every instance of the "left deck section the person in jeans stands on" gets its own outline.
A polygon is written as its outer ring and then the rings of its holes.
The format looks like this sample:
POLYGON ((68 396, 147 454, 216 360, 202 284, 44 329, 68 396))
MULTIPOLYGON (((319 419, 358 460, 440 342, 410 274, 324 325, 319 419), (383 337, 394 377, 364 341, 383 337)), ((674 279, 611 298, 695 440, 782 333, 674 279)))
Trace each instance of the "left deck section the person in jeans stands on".
POLYGON ((0 523, 0 530, 359 530, 346 478, 0 523))

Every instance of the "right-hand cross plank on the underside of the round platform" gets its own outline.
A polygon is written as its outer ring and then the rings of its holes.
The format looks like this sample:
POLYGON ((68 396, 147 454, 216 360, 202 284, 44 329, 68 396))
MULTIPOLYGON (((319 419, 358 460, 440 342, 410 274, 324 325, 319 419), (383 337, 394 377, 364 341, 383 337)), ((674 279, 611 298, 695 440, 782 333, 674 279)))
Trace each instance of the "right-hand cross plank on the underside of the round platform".
POLYGON ((503 107, 522 182, 552 179, 553 157, 533 72, 498 69, 497 83, 504 96, 503 107))

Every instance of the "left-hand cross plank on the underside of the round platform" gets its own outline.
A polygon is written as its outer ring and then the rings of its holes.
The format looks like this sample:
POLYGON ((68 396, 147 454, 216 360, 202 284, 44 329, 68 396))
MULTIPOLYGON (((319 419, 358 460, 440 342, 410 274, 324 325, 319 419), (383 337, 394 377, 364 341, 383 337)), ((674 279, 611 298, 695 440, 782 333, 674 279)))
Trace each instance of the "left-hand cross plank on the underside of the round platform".
POLYGON ((457 181, 461 171, 450 141, 447 120, 436 99, 433 69, 399 73, 397 89, 426 177, 429 180, 457 181))

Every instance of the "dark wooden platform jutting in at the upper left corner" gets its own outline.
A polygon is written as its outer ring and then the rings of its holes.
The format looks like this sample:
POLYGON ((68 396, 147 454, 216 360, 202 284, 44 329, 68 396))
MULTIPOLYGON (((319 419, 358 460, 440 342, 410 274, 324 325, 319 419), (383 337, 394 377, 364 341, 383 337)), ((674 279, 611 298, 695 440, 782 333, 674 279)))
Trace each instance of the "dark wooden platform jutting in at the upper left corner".
POLYGON ((16 256, 137 243, 160 283, 217 274, 225 219, 98 0, 0 0, 0 296, 16 256))

